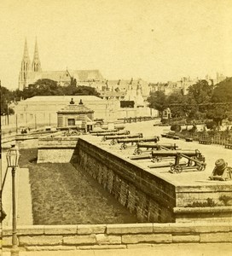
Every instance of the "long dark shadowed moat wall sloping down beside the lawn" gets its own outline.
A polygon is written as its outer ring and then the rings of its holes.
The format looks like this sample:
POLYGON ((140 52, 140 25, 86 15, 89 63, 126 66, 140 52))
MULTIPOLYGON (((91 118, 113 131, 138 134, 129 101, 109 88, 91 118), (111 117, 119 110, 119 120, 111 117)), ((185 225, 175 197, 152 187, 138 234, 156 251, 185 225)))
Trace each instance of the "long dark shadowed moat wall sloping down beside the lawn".
POLYGON ((174 222, 175 186, 131 160, 78 141, 78 163, 141 222, 174 222))

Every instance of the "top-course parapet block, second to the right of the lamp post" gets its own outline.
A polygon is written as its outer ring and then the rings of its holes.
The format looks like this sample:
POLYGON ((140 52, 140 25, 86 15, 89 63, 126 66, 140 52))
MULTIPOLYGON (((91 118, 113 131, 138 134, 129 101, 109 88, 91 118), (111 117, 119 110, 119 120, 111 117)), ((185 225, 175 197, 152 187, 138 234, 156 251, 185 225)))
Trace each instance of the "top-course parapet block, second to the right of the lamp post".
POLYGON ((77 225, 44 225, 44 234, 46 235, 65 235, 77 234, 77 225))

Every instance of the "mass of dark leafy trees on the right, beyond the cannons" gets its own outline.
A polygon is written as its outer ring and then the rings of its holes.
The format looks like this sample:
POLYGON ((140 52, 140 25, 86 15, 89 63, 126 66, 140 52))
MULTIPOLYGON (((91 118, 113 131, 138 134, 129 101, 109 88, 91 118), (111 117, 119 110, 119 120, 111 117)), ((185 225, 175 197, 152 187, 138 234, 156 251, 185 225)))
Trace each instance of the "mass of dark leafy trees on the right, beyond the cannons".
POLYGON ((188 93, 172 92, 165 96, 163 91, 151 92, 148 97, 150 108, 162 113, 165 108, 171 109, 171 116, 180 119, 212 119, 221 125, 223 119, 232 119, 232 78, 211 85, 200 80, 188 87, 188 93))

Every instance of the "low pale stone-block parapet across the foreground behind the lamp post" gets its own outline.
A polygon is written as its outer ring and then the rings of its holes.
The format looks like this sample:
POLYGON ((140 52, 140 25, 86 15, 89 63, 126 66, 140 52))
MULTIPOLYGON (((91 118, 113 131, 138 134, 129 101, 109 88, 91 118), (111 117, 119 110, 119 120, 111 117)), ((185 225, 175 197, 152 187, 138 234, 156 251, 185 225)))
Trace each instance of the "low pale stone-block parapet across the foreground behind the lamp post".
MULTIPOLYGON (((232 242, 232 224, 86 224, 19 226, 20 250, 131 248, 165 243, 232 242)), ((3 251, 12 245, 3 230, 3 251)))

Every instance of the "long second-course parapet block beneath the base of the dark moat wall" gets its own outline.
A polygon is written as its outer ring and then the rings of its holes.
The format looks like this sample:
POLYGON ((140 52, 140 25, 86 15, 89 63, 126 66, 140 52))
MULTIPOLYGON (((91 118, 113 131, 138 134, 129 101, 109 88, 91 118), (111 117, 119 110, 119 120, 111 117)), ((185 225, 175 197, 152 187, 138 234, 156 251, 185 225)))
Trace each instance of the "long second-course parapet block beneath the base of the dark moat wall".
POLYGON ((171 234, 149 234, 149 235, 124 235, 122 243, 170 243, 172 241, 171 234))

